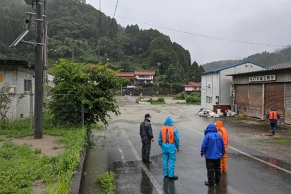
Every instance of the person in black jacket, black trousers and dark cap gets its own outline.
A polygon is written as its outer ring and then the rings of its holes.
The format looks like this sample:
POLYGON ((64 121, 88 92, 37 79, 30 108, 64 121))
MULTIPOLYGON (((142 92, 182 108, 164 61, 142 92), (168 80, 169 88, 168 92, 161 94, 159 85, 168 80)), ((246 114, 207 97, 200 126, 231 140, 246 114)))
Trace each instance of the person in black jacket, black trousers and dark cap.
POLYGON ((150 154, 150 146, 151 142, 154 141, 154 135, 153 130, 151 128, 150 124, 150 118, 152 116, 149 113, 146 113, 145 115, 145 121, 143 121, 140 125, 140 136, 142 139, 142 158, 143 161, 146 163, 151 163, 149 160, 149 154, 150 154))

